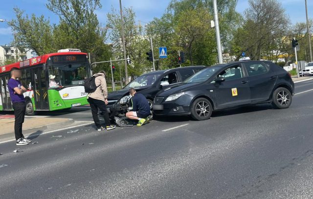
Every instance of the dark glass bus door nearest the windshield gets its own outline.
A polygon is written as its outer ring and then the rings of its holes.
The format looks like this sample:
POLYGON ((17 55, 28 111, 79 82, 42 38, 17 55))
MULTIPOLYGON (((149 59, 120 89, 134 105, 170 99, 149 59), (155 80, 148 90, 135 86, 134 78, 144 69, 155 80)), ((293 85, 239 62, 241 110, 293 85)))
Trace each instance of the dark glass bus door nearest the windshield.
POLYGON ((34 98, 36 110, 48 110, 48 93, 47 93, 47 80, 46 80, 46 71, 40 68, 32 69, 33 77, 32 79, 35 82, 34 86, 34 98))

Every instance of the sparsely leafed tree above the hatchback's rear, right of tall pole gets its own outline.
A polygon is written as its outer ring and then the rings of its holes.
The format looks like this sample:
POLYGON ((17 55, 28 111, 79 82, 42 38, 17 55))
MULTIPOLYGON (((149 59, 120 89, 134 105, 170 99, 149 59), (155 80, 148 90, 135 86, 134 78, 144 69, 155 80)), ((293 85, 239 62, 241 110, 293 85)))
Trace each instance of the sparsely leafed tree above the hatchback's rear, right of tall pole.
MULTIPOLYGON (((260 60, 264 52, 270 51, 270 46, 275 46, 275 42, 286 36, 290 22, 285 9, 277 0, 248 2, 244 25, 235 33, 232 51, 238 58, 241 52, 246 52, 250 59, 260 60)), ((275 50, 279 51, 279 48, 275 50)))

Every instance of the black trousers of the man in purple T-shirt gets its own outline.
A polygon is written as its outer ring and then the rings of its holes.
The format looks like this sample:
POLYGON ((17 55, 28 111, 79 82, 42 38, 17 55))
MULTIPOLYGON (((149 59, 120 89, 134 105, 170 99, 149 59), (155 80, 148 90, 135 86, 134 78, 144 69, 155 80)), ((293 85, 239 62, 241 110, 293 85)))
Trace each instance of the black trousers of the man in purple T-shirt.
POLYGON ((26 105, 25 102, 13 102, 12 106, 15 116, 14 122, 15 139, 18 140, 20 138, 24 138, 22 134, 22 125, 25 118, 26 105))

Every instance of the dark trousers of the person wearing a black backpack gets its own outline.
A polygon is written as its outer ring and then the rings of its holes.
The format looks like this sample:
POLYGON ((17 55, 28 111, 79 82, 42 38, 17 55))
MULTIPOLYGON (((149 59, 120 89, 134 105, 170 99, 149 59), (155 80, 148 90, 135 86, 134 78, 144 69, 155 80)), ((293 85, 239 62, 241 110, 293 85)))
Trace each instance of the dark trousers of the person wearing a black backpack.
POLYGON ((107 111, 107 106, 104 103, 104 101, 88 98, 88 102, 90 104, 92 118, 93 118, 93 121, 94 121, 94 124, 96 125, 96 127, 97 128, 101 127, 100 120, 98 118, 98 108, 100 109, 100 111, 103 114, 103 118, 104 118, 104 121, 106 122, 106 125, 110 126, 111 124, 110 124, 109 113, 107 111))

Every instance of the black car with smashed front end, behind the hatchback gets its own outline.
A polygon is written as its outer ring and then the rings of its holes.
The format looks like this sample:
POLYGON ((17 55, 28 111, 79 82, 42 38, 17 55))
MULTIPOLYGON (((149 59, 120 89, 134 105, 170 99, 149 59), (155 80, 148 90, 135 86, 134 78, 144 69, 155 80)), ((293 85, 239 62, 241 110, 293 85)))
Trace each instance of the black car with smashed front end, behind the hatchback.
POLYGON ((205 68, 205 66, 187 66, 143 74, 131 81, 123 89, 109 93, 108 111, 110 112, 111 117, 119 114, 125 115, 130 106, 130 88, 134 88, 138 93, 143 94, 152 108, 153 100, 157 92, 181 83, 203 68, 205 68))

